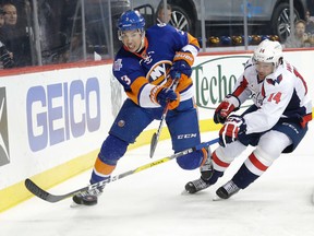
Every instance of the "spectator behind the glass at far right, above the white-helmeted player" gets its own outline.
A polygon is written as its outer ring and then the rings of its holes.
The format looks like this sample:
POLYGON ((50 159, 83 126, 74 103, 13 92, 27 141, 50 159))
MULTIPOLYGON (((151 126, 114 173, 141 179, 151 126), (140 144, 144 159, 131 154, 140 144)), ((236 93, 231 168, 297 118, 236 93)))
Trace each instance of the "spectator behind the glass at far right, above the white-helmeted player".
MULTIPOLYGON (((302 48, 310 47, 310 37, 305 33, 306 23, 303 20, 299 20, 295 22, 294 35, 290 35, 286 43, 286 48, 302 48)), ((312 36, 311 36, 312 39, 312 36)))

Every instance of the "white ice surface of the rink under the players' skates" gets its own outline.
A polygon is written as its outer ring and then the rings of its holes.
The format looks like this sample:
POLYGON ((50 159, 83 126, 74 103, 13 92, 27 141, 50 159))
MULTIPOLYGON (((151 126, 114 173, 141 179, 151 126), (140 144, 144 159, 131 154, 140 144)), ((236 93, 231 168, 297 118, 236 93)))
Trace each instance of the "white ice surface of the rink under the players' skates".
MULTIPOLYGON (((214 138, 213 133, 202 134, 203 141, 214 138)), ((306 140, 313 143, 313 133, 307 133, 306 140)), ((314 156, 304 155, 306 149, 313 149, 306 143, 301 143, 294 154, 281 155, 252 186, 229 200, 213 201, 213 197, 252 149, 206 191, 182 194, 185 182, 197 178, 198 170, 182 170, 173 160, 107 185, 96 206, 73 209, 71 199, 49 203, 32 198, 0 215, 0 235, 314 236, 314 156)), ((169 140, 159 142, 154 161, 171 153, 169 140)), ((153 161, 148 145, 126 154, 114 175, 153 161)), ((83 187, 89 174, 49 191, 58 194, 83 187)))

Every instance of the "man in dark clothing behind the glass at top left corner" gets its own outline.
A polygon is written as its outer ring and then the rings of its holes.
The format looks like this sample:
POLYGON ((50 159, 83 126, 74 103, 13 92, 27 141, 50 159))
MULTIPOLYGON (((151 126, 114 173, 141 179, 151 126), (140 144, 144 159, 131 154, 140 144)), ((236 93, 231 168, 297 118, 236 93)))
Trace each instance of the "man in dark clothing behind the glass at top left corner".
POLYGON ((31 43, 25 22, 19 24, 17 11, 14 4, 4 3, 2 5, 4 14, 4 25, 0 31, 0 40, 12 52, 15 67, 26 67, 32 64, 31 43))

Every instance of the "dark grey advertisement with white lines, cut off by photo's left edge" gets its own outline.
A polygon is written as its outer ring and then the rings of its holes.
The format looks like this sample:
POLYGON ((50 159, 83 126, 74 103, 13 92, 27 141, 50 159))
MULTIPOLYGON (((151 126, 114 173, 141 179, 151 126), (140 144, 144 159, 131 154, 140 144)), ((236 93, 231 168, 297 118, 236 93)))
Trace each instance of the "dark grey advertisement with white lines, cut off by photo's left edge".
POLYGON ((0 166, 10 163, 5 87, 0 87, 0 166))

